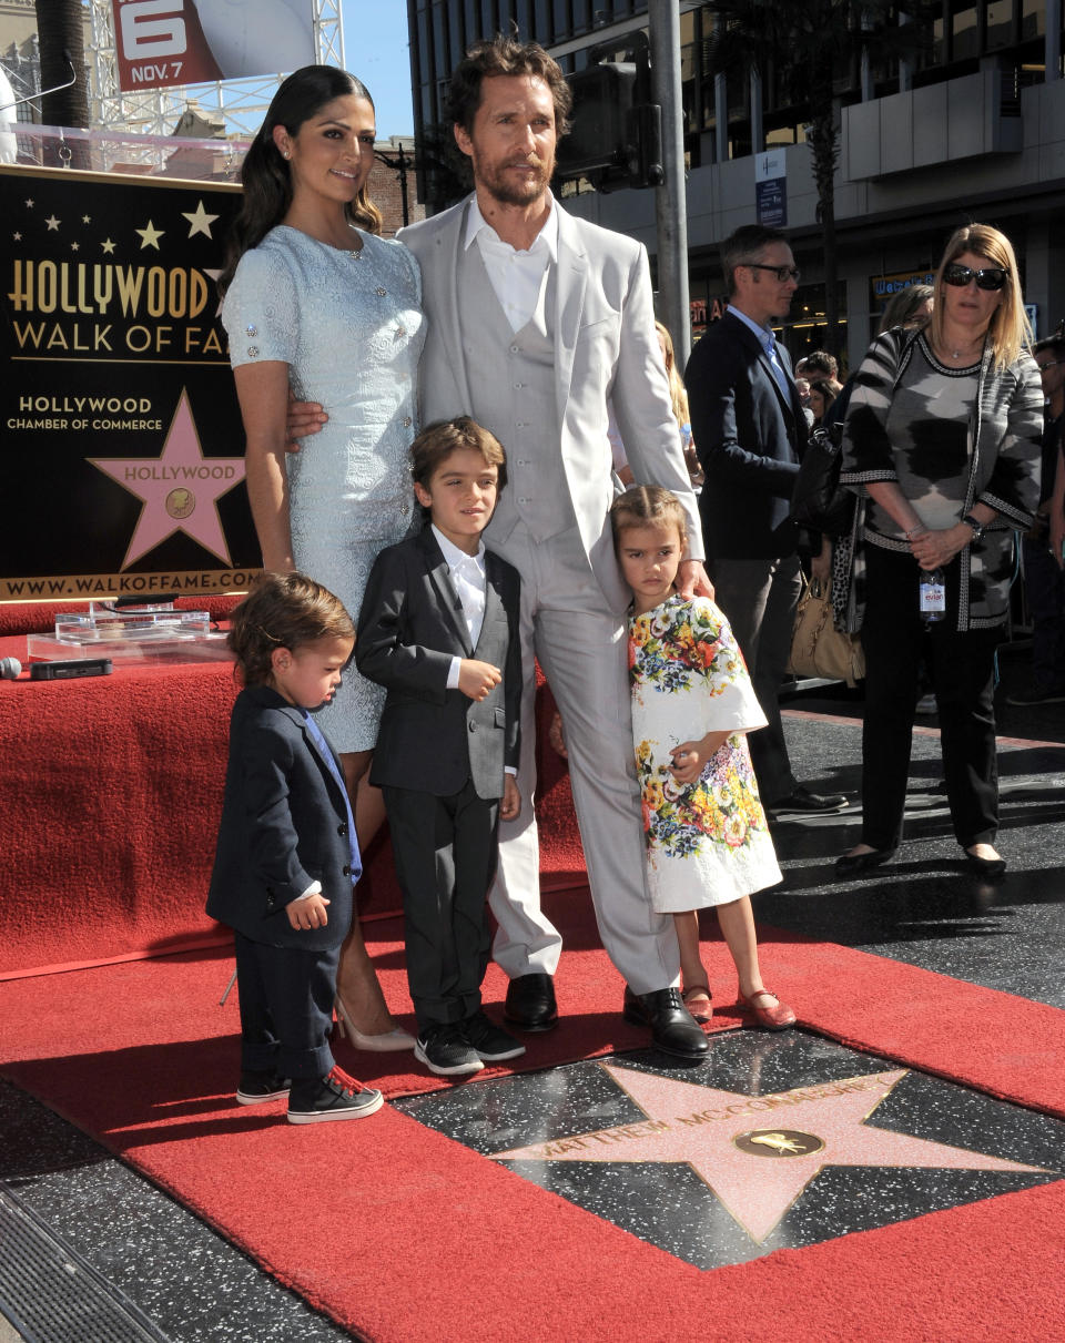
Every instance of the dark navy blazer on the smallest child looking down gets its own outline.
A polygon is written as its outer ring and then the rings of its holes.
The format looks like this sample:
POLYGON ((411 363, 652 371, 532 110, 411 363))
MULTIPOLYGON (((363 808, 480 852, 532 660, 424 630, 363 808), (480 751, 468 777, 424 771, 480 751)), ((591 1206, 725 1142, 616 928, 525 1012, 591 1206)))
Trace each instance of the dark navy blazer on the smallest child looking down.
POLYGON ((324 951, 344 941, 352 905, 352 842, 340 784, 299 709, 269 686, 248 686, 230 719, 207 912, 252 941, 324 951), (316 880, 329 900, 329 923, 291 928, 285 905, 316 880))

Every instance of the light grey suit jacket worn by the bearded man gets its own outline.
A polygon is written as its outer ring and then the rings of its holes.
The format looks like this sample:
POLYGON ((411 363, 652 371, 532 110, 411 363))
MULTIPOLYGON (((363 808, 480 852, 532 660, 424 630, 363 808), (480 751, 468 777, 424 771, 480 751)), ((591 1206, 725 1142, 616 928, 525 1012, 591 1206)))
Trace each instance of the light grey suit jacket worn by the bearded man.
MULTIPOLYGON (((477 371, 466 367, 463 356, 457 278, 467 204, 461 201, 400 234, 422 265, 428 317, 419 365, 423 422, 477 416, 471 385, 477 371)), ((623 234, 573 219, 557 203, 555 208, 559 450, 592 572, 610 607, 623 611, 630 592, 614 556, 608 520, 616 489, 607 438, 610 406, 635 479, 663 485, 680 497, 689 516, 690 553, 701 559, 698 509, 654 330, 646 250, 623 234)), ((492 544, 490 525, 485 540, 492 544)))

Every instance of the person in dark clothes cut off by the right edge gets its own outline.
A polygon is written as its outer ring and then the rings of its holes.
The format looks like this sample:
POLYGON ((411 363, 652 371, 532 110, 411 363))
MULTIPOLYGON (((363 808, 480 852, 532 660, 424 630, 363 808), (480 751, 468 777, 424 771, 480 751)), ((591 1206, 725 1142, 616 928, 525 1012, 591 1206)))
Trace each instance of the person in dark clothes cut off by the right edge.
POLYGON ((1058 330, 1031 349, 1042 375, 1046 423, 1042 436, 1042 488, 1035 525, 1021 541, 1025 596, 1031 615, 1031 685, 1006 696, 1006 704, 1033 708, 1065 702, 1065 575, 1054 555, 1050 510, 1065 427, 1065 333, 1058 330))

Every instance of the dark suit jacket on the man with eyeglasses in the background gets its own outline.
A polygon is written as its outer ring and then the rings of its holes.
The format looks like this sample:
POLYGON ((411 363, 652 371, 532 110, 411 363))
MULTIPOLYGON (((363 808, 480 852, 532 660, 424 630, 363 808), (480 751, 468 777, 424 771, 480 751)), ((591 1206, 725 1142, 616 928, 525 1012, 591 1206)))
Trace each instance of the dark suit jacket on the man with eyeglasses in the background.
POLYGON ((708 328, 688 360, 684 384, 692 436, 706 482, 700 494, 710 559, 791 555, 798 529, 788 518, 806 447, 806 416, 778 345, 791 395, 784 396, 755 333, 729 313, 708 328))

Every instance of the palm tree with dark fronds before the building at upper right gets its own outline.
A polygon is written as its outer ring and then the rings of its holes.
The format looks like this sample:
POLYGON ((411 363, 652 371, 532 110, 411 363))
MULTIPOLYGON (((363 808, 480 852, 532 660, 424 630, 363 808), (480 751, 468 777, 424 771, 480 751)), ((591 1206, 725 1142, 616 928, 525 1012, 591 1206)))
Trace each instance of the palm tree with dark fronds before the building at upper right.
MULTIPOLYGON (((835 165, 839 126, 837 87, 851 87, 854 70, 869 52, 912 55, 927 40, 929 7, 924 0, 708 0, 714 30, 708 43, 710 74, 774 75, 788 102, 807 118, 806 140, 814 161, 818 222, 823 230, 826 344, 838 340, 835 246, 835 165), (909 23, 900 23, 900 8, 909 23)), ((752 145, 755 153, 760 145, 752 145)))

